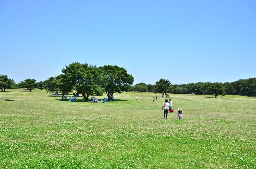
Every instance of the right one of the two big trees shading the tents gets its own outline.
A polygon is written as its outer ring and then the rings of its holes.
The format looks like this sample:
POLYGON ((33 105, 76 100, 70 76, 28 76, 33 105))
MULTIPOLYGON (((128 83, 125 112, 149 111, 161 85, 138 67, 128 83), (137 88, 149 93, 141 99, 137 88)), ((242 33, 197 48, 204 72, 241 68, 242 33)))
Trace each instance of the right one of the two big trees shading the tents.
POLYGON ((121 93, 127 91, 127 85, 133 84, 133 76, 128 74, 124 68, 112 65, 104 65, 99 67, 102 73, 102 87, 107 93, 108 99, 112 100, 114 93, 121 93))

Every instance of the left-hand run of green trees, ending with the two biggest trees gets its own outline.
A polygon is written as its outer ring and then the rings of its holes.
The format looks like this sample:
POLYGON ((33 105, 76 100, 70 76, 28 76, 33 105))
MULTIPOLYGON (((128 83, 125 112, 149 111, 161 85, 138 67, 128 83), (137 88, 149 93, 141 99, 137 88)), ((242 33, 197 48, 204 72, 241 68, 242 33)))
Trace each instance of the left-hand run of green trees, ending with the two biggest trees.
POLYGON ((30 92, 35 89, 45 89, 46 92, 61 92, 62 95, 72 92, 81 94, 85 100, 89 95, 102 95, 106 92, 108 99, 112 100, 114 93, 126 91, 126 87, 134 81, 133 76, 124 68, 112 65, 104 65, 97 68, 88 63, 73 62, 65 65, 63 74, 49 77, 47 80, 36 82, 35 79, 26 79, 15 84, 7 75, 0 76, 0 89, 25 88, 30 92))

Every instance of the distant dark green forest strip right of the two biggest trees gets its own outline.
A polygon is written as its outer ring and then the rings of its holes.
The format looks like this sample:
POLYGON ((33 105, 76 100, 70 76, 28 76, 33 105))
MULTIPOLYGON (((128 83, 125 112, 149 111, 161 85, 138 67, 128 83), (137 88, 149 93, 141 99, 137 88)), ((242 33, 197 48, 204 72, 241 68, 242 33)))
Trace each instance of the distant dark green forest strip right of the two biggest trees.
MULTIPOLYGON (((145 84, 143 82, 137 83, 134 86, 129 86, 128 91, 160 93, 159 90, 161 91, 161 89, 159 89, 159 86, 161 85, 159 83, 161 83, 161 79, 153 85, 145 84)), ((197 82, 189 84, 170 84, 170 89, 167 93, 207 94, 215 97, 227 94, 254 96, 256 94, 256 77, 225 83, 197 82)))

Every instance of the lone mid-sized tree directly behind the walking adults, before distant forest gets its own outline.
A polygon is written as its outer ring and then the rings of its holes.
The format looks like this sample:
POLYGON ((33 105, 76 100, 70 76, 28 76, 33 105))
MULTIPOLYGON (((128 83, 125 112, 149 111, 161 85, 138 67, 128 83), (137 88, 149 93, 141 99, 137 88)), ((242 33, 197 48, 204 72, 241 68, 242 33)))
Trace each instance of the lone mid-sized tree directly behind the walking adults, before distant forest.
POLYGON ((171 82, 169 80, 160 79, 159 81, 155 82, 154 93, 160 93, 162 94, 162 97, 164 97, 164 94, 172 93, 174 89, 170 84, 171 82))

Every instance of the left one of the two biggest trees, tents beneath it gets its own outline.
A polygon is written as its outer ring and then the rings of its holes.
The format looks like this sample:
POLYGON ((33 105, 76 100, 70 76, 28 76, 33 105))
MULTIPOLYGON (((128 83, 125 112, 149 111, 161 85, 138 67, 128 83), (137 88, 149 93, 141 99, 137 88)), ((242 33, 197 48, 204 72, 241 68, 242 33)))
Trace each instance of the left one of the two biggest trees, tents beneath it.
POLYGON ((64 73, 66 83, 72 84, 77 93, 82 94, 85 100, 88 100, 89 95, 101 91, 100 82, 102 76, 100 76, 96 65, 73 62, 61 71, 64 73))

